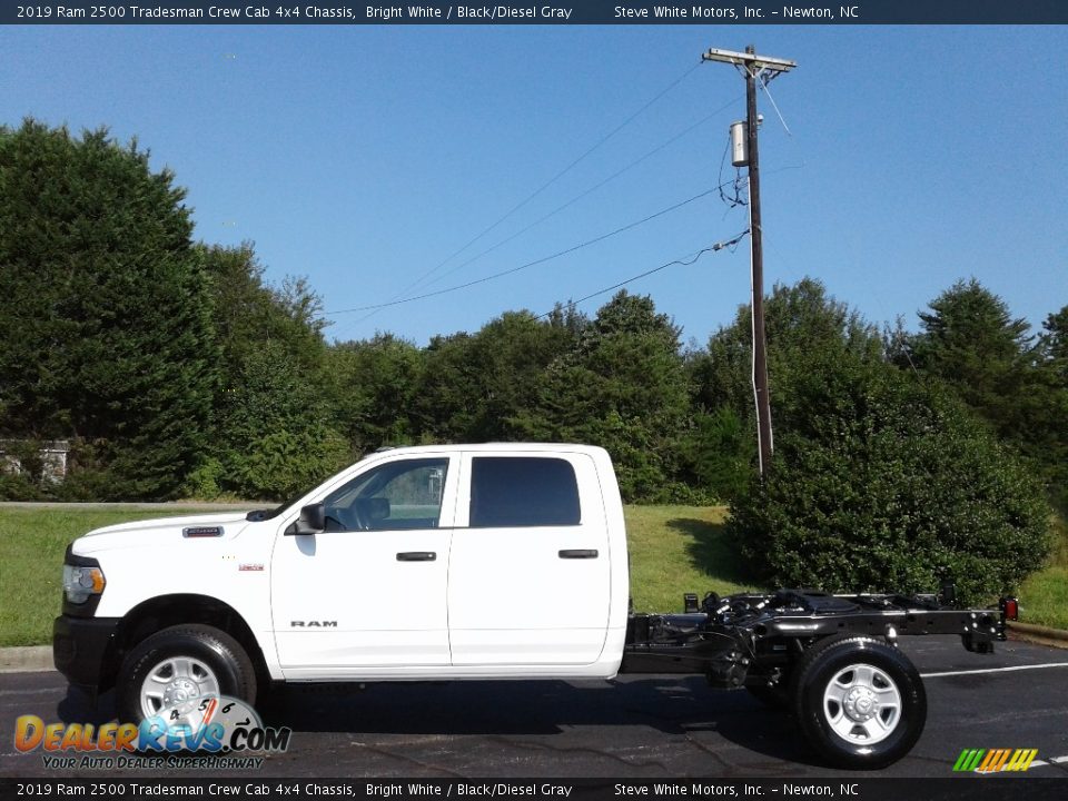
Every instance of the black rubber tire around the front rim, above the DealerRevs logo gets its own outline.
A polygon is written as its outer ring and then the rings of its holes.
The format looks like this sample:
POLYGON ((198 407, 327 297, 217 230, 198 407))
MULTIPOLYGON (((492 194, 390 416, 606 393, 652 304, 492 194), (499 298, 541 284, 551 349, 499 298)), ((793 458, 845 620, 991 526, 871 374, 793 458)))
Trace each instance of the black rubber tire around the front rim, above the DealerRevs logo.
POLYGON ((194 663, 196 679, 214 685, 220 695, 256 701, 256 669, 237 642, 226 632, 208 625, 184 624, 164 629, 146 637, 122 661, 116 685, 116 705, 123 723, 140 723, 147 716, 141 690, 154 673, 166 675, 174 660, 194 663), (207 678, 206 678, 207 675, 207 678))

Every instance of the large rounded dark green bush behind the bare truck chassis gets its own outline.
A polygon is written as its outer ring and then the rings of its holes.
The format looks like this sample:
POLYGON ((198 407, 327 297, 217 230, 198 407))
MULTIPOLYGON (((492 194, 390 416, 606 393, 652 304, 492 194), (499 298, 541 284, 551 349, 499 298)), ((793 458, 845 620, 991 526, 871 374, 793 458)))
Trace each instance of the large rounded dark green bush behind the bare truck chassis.
POLYGON ((1015 590, 1050 550, 1049 507, 1015 456, 938 387, 879 363, 799 372, 730 530, 760 577, 834 592, 1015 590))

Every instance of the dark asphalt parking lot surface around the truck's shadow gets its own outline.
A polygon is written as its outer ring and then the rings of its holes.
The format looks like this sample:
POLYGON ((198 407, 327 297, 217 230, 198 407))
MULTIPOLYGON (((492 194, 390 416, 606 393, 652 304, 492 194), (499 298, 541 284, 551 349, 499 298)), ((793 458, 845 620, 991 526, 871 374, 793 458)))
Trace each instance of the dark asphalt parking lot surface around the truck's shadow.
MULTIPOLYGON (((956 637, 902 637, 901 647, 924 675, 927 728, 912 752, 879 775, 941 778, 952 774, 963 749, 1032 748, 1038 758, 1026 775, 1068 778, 1068 651, 1009 642, 978 655, 956 637)), ((261 712, 268 725, 293 729, 289 750, 258 771, 227 775, 857 775, 815 761, 787 715, 744 691, 710 690, 698 676, 304 688, 261 712)), ((99 778, 46 769, 39 751, 17 752, 22 714, 99 723, 112 714, 108 695, 93 710, 58 673, 0 675, 0 775, 99 778)))

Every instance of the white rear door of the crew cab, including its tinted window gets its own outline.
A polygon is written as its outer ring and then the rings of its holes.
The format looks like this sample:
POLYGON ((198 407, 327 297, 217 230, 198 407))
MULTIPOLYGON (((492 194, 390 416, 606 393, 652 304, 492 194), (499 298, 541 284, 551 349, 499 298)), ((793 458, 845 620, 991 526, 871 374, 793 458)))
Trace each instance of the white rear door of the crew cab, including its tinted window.
POLYGON ((448 572, 453 664, 595 662, 609 564, 587 454, 465 453, 448 572))

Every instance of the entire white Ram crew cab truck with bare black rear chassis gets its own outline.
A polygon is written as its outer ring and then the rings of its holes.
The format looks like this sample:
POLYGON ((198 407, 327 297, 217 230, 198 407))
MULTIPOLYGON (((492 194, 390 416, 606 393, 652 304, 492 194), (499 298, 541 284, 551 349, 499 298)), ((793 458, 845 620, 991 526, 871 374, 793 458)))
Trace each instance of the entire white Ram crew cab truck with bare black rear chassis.
POLYGON ((629 610, 606 452, 492 444, 377 452, 276 510, 108 526, 63 566, 56 666, 120 721, 195 722, 296 682, 700 673, 791 706, 830 762, 909 751, 927 709, 902 634, 1005 639, 998 611, 940 596, 781 590, 629 610))

